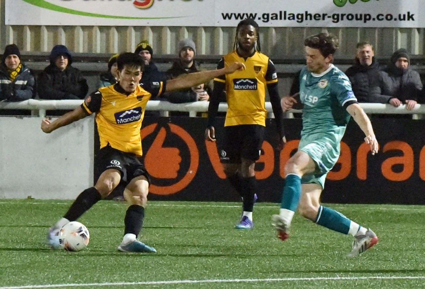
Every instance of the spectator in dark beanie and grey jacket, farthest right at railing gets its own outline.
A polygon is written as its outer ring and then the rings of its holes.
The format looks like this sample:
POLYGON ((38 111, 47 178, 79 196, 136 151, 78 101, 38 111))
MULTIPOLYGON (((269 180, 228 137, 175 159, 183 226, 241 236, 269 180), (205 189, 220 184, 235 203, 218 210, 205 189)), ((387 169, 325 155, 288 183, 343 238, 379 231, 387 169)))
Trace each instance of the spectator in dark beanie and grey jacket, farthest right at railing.
POLYGON ((412 110, 422 93, 419 73, 410 66, 407 50, 399 49, 391 56, 391 63, 380 71, 380 94, 388 96, 388 103, 398 107, 406 104, 412 110))

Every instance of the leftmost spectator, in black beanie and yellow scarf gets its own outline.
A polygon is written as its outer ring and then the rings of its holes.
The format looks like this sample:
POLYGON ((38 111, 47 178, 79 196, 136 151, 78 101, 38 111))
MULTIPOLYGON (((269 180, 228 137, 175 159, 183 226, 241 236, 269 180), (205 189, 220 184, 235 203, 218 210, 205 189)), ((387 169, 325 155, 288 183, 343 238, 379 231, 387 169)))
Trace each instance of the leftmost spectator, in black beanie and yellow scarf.
POLYGON ((34 74, 20 60, 16 44, 6 46, 0 64, 0 101, 22 101, 36 95, 34 74))

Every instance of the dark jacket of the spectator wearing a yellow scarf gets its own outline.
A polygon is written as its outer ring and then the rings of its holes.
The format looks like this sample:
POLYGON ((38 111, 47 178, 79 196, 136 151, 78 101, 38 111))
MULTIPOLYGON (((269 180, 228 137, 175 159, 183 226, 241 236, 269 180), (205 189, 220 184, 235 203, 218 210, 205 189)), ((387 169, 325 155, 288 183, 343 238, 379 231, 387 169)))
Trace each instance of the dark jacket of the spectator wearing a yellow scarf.
POLYGON ((7 67, 0 64, 0 101, 28 100, 36 93, 34 74, 25 64, 14 81, 10 81, 7 67))

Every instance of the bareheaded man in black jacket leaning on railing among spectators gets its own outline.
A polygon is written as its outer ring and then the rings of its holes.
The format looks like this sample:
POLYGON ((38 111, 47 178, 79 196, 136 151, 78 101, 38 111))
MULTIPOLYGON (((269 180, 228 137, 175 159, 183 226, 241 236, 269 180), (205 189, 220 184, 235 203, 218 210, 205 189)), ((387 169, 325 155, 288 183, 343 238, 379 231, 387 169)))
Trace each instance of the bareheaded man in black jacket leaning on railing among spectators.
POLYGON ((388 103, 390 99, 375 89, 380 83, 380 66, 374 56, 371 43, 357 43, 356 64, 346 71, 359 103, 388 103))

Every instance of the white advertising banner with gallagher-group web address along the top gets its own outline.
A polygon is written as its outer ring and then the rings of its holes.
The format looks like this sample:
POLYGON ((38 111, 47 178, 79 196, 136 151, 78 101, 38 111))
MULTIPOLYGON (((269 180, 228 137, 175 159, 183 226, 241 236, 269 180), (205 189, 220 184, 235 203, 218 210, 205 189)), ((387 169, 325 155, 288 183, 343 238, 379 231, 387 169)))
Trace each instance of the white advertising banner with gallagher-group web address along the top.
POLYGON ((425 27, 424 0, 6 0, 6 25, 425 27), (422 5, 419 5, 421 3, 422 5))

